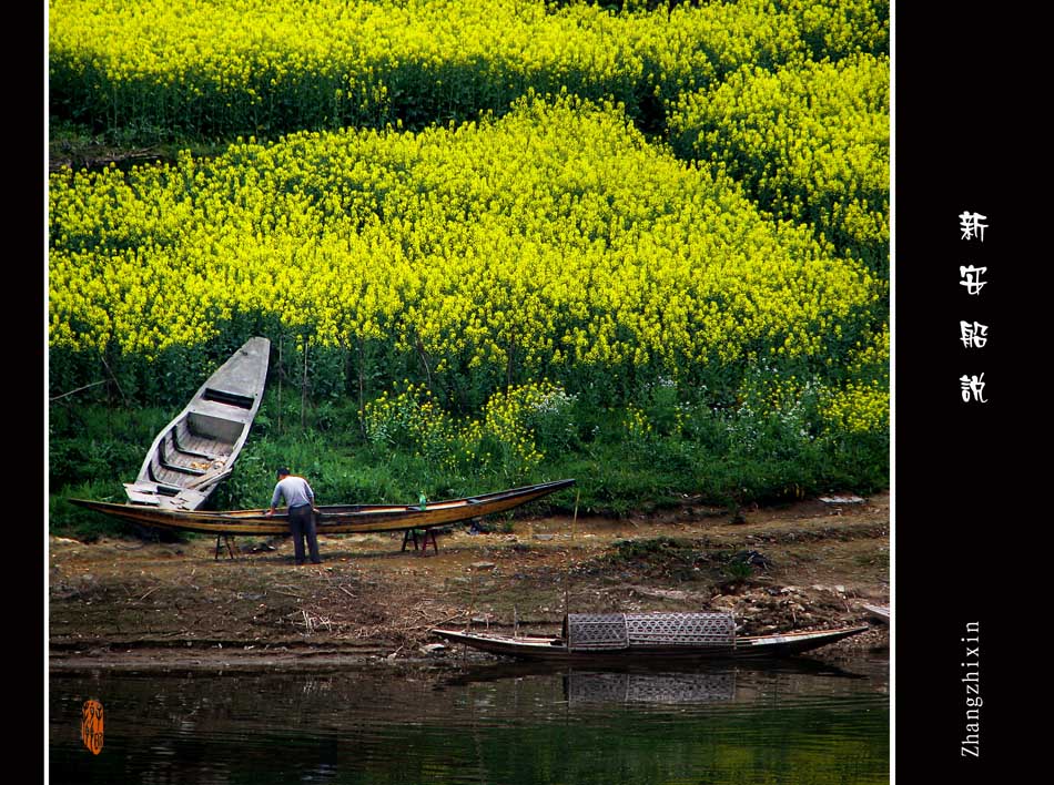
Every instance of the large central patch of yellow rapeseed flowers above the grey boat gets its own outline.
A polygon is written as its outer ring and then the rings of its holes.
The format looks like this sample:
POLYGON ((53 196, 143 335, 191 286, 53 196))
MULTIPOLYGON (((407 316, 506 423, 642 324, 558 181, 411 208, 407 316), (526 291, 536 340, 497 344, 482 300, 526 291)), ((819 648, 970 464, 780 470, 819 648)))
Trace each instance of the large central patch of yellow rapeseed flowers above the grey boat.
POLYGON ((884 282, 727 175, 565 98, 419 133, 305 132, 50 187, 52 346, 158 351, 271 314, 437 373, 820 358, 884 282))

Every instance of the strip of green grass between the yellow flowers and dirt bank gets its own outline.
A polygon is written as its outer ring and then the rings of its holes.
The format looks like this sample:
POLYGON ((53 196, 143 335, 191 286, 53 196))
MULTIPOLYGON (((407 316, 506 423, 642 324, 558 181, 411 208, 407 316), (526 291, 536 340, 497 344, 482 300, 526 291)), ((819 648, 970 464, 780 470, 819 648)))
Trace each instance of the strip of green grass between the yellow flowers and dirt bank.
MULTIPOLYGON (((576 506, 581 514, 607 516, 670 509, 682 493, 731 509, 833 490, 868 493, 889 485, 889 444, 882 435, 805 441, 797 450, 787 444, 779 451, 763 444, 747 450, 736 440, 715 439, 717 428, 734 430, 733 415, 715 415, 700 431, 652 432, 641 440, 622 427, 624 411, 591 410, 588 417, 574 414, 576 422, 588 424, 579 429, 579 438, 568 441, 563 431, 557 444, 539 438, 543 460, 510 478, 493 463, 462 461, 444 469, 413 447, 369 444, 355 412, 346 401, 315 407, 305 412, 302 428, 292 396, 283 404, 276 392, 268 392, 234 472, 209 506, 266 507, 274 470, 282 465, 307 477, 323 504, 415 503, 422 492, 428 499, 447 499, 575 478, 575 487, 520 511, 565 514, 576 506)), ((52 406, 50 531, 80 539, 141 533, 65 499, 123 502, 122 482, 134 479, 153 437, 172 414, 102 404, 52 406)))

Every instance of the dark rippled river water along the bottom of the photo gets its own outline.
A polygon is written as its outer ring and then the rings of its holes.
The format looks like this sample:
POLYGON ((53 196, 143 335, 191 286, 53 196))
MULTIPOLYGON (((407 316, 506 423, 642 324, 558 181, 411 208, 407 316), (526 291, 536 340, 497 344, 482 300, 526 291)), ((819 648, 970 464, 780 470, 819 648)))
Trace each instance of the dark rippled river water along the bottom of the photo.
POLYGON ((48 706, 51 783, 866 785, 890 772, 883 660, 53 672, 48 706))

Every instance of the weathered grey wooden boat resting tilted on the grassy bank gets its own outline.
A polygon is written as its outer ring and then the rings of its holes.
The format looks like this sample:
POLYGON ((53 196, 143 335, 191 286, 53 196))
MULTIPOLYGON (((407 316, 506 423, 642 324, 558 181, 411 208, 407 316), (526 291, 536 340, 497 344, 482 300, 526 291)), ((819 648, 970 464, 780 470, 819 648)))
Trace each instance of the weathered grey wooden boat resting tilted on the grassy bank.
POLYGON ((161 510, 196 510, 231 473, 260 409, 271 341, 250 338, 203 384, 158 435, 129 502, 161 510))

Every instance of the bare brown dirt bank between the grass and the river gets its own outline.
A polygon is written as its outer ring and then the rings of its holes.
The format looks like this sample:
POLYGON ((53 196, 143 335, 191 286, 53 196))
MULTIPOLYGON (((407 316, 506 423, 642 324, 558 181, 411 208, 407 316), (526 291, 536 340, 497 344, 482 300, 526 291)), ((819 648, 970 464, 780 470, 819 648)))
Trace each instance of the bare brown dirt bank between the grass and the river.
MULTIPOLYGON (((456 527, 438 553, 402 534, 321 538, 322 565, 292 542, 50 542, 52 667, 254 667, 422 657, 438 624, 551 633, 572 612, 730 610, 746 634, 865 623, 889 604, 889 496, 727 511, 686 500, 621 520, 516 518, 456 527), (739 564, 734 557, 753 563, 739 564), (394 656, 393 656, 394 655, 394 656)), ((873 629, 840 652, 888 645, 873 629)), ((439 654, 435 650, 432 654, 439 654)))

